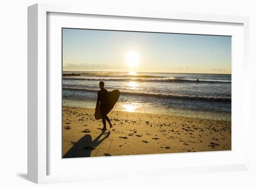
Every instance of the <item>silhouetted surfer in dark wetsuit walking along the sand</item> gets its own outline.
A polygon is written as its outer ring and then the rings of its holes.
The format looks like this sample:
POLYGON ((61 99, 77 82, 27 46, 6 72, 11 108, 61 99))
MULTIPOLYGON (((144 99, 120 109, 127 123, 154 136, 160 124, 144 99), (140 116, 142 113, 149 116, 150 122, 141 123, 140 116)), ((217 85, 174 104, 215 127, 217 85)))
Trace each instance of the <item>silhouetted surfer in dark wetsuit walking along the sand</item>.
MULTIPOLYGON (((99 105, 99 103, 101 102, 101 106, 100 106, 100 112, 101 112, 101 118, 102 118, 102 123, 103 123, 103 129, 102 131, 107 130, 106 128, 106 120, 109 123, 110 128, 112 128, 112 124, 107 116, 107 110, 108 110, 108 105, 109 105, 109 101, 108 101, 108 90, 106 90, 104 88, 104 82, 101 81, 100 82, 100 89, 98 91, 98 97, 97 97, 97 103, 96 103, 96 108, 99 105)), ((96 110, 95 108, 95 110, 96 110)))

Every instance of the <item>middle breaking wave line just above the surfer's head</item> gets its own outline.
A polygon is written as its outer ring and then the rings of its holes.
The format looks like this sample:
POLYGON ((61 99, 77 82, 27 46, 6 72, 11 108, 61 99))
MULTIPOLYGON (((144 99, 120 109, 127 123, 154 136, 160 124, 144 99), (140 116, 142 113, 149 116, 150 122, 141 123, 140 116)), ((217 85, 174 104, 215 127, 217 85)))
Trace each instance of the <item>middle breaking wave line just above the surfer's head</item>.
POLYGON ((231 81, 209 81, 209 80, 188 80, 179 78, 165 78, 165 79, 149 79, 149 78, 73 78, 63 77, 64 80, 84 80, 84 81, 135 81, 135 82, 163 82, 163 83, 227 83, 231 84, 231 81))

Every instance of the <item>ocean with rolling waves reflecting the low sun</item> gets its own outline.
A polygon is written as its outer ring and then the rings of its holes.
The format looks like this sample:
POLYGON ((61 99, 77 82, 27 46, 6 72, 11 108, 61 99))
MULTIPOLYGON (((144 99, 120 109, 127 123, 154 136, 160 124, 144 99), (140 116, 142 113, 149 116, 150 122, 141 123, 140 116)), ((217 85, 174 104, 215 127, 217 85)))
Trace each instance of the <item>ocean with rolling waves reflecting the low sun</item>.
POLYGON ((113 110, 231 121, 231 75, 63 71, 63 105, 95 108, 99 82, 120 90, 113 110))

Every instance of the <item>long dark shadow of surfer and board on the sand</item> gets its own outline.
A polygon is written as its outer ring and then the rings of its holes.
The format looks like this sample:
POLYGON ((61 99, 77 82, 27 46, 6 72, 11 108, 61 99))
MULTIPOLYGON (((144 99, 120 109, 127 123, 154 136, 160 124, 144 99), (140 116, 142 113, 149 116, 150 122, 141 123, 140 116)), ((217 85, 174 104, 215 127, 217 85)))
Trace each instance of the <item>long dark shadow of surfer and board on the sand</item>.
POLYGON ((81 157, 90 157, 91 152, 96 149, 105 139, 110 135, 110 132, 105 133, 101 132, 94 140, 92 140, 91 135, 84 135, 78 142, 70 148, 63 158, 81 158, 81 157), (101 136, 105 135, 101 140, 101 136))

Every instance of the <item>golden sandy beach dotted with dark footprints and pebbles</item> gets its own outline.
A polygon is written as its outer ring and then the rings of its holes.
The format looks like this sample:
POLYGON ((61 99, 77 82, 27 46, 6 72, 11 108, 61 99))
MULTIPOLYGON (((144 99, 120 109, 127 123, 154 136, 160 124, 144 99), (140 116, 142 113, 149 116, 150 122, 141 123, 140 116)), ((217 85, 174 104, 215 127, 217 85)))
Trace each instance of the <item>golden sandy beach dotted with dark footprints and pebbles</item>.
POLYGON ((108 114, 102 133, 94 110, 63 106, 63 158, 231 150, 231 122, 136 112, 108 114))

